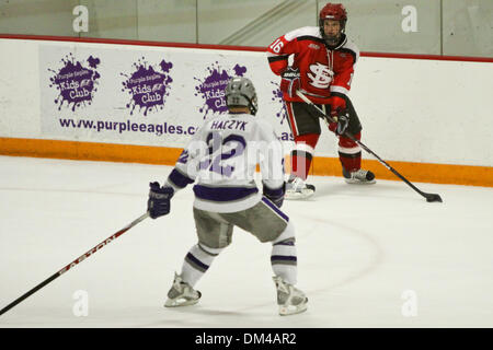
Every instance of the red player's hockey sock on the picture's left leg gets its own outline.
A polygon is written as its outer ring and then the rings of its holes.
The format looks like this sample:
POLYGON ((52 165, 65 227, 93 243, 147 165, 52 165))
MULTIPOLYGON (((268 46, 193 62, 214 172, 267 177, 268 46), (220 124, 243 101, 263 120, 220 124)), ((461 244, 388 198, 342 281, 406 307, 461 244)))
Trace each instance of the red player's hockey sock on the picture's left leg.
POLYGON ((295 149, 291 151, 291 174, 307 179, 313 158, 314 148, 320 135, 308 133, 295 137, 295 149))

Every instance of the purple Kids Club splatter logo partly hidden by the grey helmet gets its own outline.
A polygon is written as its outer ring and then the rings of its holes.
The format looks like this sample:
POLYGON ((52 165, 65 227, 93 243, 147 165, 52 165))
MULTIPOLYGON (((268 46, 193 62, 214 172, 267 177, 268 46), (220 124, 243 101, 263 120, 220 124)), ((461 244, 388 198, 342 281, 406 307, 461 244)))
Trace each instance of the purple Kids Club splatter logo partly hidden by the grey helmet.
POLYGON ((246 72, 246 67, 241 67, 236 65, 232 69, 233 72, 228 72, 221 69, 216 61, 211 67, 207 68, 208 75, 204 81, 198 78, 194 78, 199 82, 195 86, 195 96, 202 95, 204 98, 204 106, 198 110, 204 113, 204 119, 207 117, 208 113, 225 113, 228 110, 226 106, 225 89, 228 81, 232 77, 243 77, 246 72))

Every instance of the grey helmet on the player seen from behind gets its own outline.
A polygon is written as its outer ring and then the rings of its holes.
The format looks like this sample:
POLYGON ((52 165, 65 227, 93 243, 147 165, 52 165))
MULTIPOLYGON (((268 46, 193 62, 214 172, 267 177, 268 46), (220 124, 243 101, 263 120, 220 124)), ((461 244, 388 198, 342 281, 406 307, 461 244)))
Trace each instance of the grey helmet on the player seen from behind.
POLYGON ((231 107, 249 107, 252 115, 256 114, 259 108, 256 103, 255 86, 248 78, 231 78, 226 85, 226 105, 231 107))

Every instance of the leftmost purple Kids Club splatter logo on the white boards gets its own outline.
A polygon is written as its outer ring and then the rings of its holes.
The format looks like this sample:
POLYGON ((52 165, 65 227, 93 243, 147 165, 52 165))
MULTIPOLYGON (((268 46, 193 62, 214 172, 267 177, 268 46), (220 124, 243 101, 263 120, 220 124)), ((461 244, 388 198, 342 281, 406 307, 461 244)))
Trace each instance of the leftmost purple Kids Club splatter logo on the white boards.
POLYGON ((55 98, 58 110, 65 103, 68 107, 71 106, 72 112, 85 104, 91 104, 101 77, 96 71, 100 59, 90 56, 87 59, 89 67, 84 67, 83 61, 76 61, 73 55, 69 54, 61 59, 61 62, 64 67, 60 70, 48 69, 55 73, 49 79, 51 82, 49 88, 56 86, 59 91, 59 95, 55 98))

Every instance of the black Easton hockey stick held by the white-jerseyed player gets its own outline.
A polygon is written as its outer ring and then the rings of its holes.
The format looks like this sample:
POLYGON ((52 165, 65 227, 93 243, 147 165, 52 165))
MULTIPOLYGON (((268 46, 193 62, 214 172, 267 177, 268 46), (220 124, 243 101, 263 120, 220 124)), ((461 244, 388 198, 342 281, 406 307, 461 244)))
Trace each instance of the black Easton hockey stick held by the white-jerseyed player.
POLYGON ((107 237, 106 240, 104 240, 103 242, 101 242, 100 244, 98 244, 95 247, 93 247, 91 250, 82 254, 80 257, 78 257, 76 260, 73 260, 72 262, 70 262, 69 265, 67 265, 66 267, 64 267, 61 270, 59 270, 58 272, 56 272, 55 275, 53 275, 51 277, 47 278, 46 280, 44 280, 43 282, 41 282, 39 284, 37 284, 36 287, 34 287, 32 290, 30 290, 28 292, 26 292, 25 294, 21 295, 20 298, 18 298, 16 300, 14 300, 12 303, 10 303, 9 305, 7 305, 5 307, 3 307, 2 310, 0 310, 0 315, 3 315, 4 313, 7 313, 9 310, 11 310, 12 307, 14 307, 15 305, 18 305, 20 302, 22 302, 23 300, 25 300, 27 296, 34 294, 35 292, 37 292, 38 290, 41 290, 43 287, 45 287, 46 284, 48 284, 49 282, 51 282, 53 280, 57 279, 58 277, 60 277, 61 275, 64 275, 65 272, 67 272, 68 270, 70 270, 72 267, 74 267, 77 264, 81 262, 82 260, 84 260, 85 258, 90 257, 91 255, 93 255, 94 253, 96 253, 98 250, 100 250, 101 248, 103 248, 105 245, 107 245, 108 243, 112 243, 114 240, 116 240, 117 237, 119 237, 121 235, 123 235, 125 232, 127 232, 128 230, 130 230, 131 228, 134 228, 136 224, 138 224, 140 221, 142 221, 144 219, 148 218, 149 213, 146 212, 145 214, 142 214, 140 218, 134 220, 131 223, 129 223, 128 225, 126 225, 125 228, 123 228, 122 230, 119 230, 118 232, 116 232, 115 234, 111 235, 110 237, 107 237))

